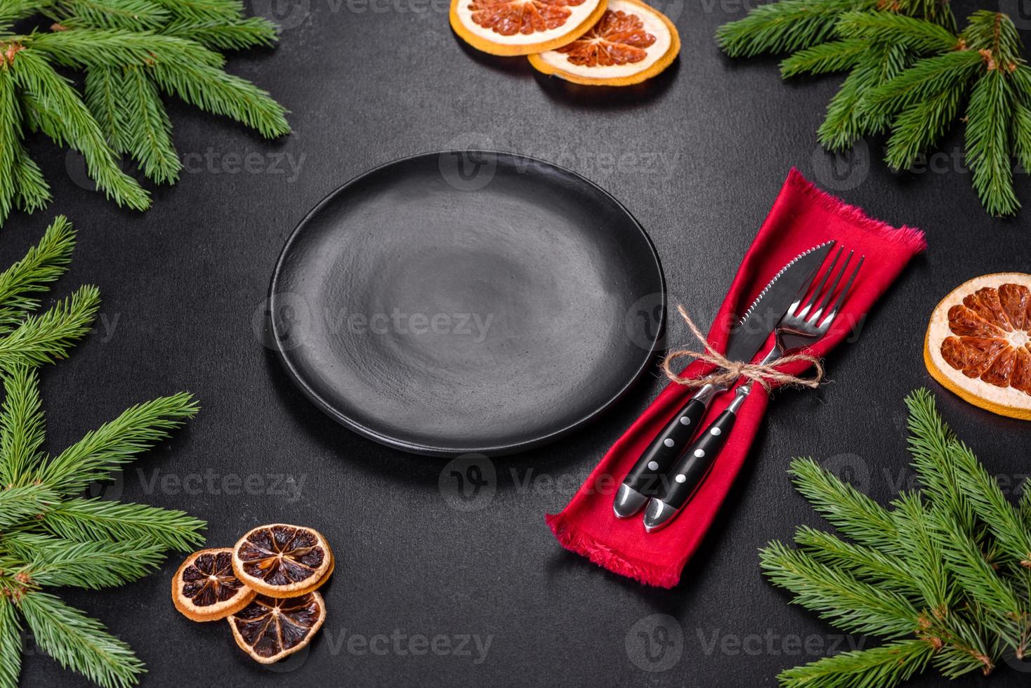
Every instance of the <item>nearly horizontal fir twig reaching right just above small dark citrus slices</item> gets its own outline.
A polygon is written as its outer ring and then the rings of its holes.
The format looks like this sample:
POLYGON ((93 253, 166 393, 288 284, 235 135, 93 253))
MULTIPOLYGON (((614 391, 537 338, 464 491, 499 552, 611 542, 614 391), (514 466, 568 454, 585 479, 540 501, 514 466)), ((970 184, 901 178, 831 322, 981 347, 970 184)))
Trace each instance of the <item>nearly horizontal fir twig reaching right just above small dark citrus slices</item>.
POLYGON ((143 540, 189 552, 204 542, 206 523, 186 512, 142 504, 73 498, 46 511, 47 532, 68 540, 143 540))

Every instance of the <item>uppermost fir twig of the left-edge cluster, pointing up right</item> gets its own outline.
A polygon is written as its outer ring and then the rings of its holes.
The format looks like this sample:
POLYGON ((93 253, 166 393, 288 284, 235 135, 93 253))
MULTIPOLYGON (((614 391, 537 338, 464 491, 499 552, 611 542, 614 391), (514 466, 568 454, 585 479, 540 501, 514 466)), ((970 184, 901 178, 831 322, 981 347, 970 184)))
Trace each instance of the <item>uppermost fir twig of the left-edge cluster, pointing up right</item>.
POLYGON ((10 333, 13 325, 39 308, 39 299, 30 295, 46 291, 65 273, 74 248, 71 222, 58 215, 39 243, 0 273, 0 334, 10 333))

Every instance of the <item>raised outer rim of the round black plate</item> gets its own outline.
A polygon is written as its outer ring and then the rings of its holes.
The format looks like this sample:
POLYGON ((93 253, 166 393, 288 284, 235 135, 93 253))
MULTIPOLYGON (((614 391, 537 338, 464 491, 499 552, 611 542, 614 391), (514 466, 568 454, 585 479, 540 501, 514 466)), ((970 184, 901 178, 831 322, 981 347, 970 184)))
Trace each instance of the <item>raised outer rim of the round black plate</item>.
POLYGON ((279 359, 279 363, 284 366, 284 368, 286 368, 287 373, 288 373, 288 377, 291 379, 291 382, 293 382, 298 388, 300 388, 300 390, 304 393, 304 395, 307 397, 308 400, 312 404, 314 404, 323 413, 325 413, 330 418, 332 418, 333 420, 335 420, 339 424, 343 425, 347 429, 351 429, 352 432, 357 433, 358 435, 361 435, 361 436, 363 436, 365 438, 368 438, 368 439, 370 439, 370 440, 372 440, 374 442, 378 442, 379 444, 386 445, 386 446, 391 447, 393 449, 400 449, 401 451, 405 451, 405 452, 408 452, 408 453, 411 453, 411 454, 418 454, 418 455, 422 455, 422 456, 435 456, 435 457, 445 457, 445 458, 454 458, 454 457, 462 456, 462 455, 465 455, 465 454, 484 454, 484 455, 487 455, 487 456, 503 456, 503 455, 507 455, 507 454, 521 453, 521 452, 533 449, 535 447, 540 447, 540 446, 550 444, 552 442, 555 442, 556 440, 559 440, 562 437, 565 437, 565 436, 573 433, 578 427, 580 427, 580 426, 583 426, 585 424, 590 423, 592 420, 596 419, 598 416, 604 414, 605 411, 609 410, 621 399, 623 399, 626 395, 626 393, 630 390, 630 388, 640 380, 640 378, 644 375, 644 372, 647 370, 648 365, 652 363, 653 358, 655 357, 656 353, 658 352, 658 350, 659 350, 659 342, 661 341, 662 334, 663 334, 663 332, 665 331, 665 328, 666 328, 666 320, 667 320, 666 308, 667 308, 667 305, 668 305, 667 304, 666 274, 665 274, 665 271, 663 271, 663 269, 662 269, 662 261, 659 257, 659 251, 658 251, 658 249, 655 246, 655 242, 652 240, 652 237, 648 236, 647 232, 644 230, 644 227, 637 220, 637 218, 634 216, 634 214, 632 212, 630 212, 630 209, 627 208, 618 198, 616 198, 612 194, 610 194, 606 190, 602 188, 599 184, 595 183, 591 179, 588 179, 584 175, 579 174, 578 172, 570 170, 570 169, 568 169, 566 167, 563 167, 561 165, 557 165, 555 163, 552 163, 550 161, 546 161, 546 160, 543 160, 543 159, 540 159, 540 158, 534 158, 532 156, 525 156, 523 153, 511 152, 511 151, 503 151, 503 150, 492 150, 492 149, 486 149, 486 148, 485 149, 480 149, 480 148, 447 148, 447 149, 442 149, 442 150, 429 150, 429 151, 425 151, 425 152, 413 153, 413 154, 410 154, 410 156, 404 156, 402 158, 397 158, 397 159, 391 160, 391 161, 389 161, 387 163, 383 163, 380 165, 376 165, 375 167, 369 168, 365 172, 362 172, 361 174, 358 174, 358 175, 356 175, 354 177, 351 177, 350 179, 347 179, 346 181, 344 181, 342 184, 340 184, 339 186, 337 186, 336 188, 334 188, 333 191, 331 191, 329 194, 327 194, 325 197, 323 197, 323 199, 321 201, 319 201, 319 203, 317 203, 307 213, 305 213, 304 217, 302 217, 301 220, 297 223, 297 226, 294 227, 293 231, 290 233, 290 236, 287 238, 286 243, 282 245, 282 249, 279 251, 278 257, 276 257, 275 267, 272 270, 272 276, 269 279, 267 304, 268 304, 268 307, 266 309, 266 328, 268 329, 268 331, 272 335, 272 344, 273 344, 272 348, 275 350, 276 357, 279 359), (637 370, 634 371, 633 375, 631 375, 627 379, 627 382, 622 387, 620 387, 620 389, 618 389, 613 394, 611 394, 607 400, 605 400, 604 403, 596 406, 587 415, 584 415, 584 416, 577 418, 576 420, 573 420, 573 421, 565 424, 564 426, 562 426, 562 427, 560 427, 560 428, 558 428, 556 431, 553 431, 553 432, 551 432, 551 433, 548 433, 546 435, 541 435, 539 437, 535 437, 535 438, 530 439, 530 440, 526 440, 526 441, 522 441, 522 442, 507 443, 507 444, 500 444, 500 445, 493 445, 493 446, 490 446, 490 447, 473 447, 473 448, 467 448, 467 447, 444 447, 444 446, 437 446, 437 445, 428 445, 428 444, 419 444, 419 443, 407 442, 407 441, 404 441, 404 440, 399 440, 398 438, 395 438, 395 437, 391 437, 391 436, 385 435, 383 433, 379 433, 379 432, 377 432, 375 429, 372 429, 371 427, 368 427, 368 426, 360 423, 359 421, 357 421, 356 419, 352 418, 351 416, 342 413, 339 409, 337 409, 335 406, 333 406, 332 404, 330 404, 329 402, 327 402, 325 399, 322 398, 322 395, 320 395, 314 389, 311 388, 311 386, 307 383, 307 381, 304 379, 304 377, 300 374, 300 372, 297 370, 297 368, 290 360, 289 350, 285 349, 281 346, 280 336, 279 336, 280 333, 276 331, 275 318, 273 317, 273 313, 275 313, 275 308, 276 308, 275 285, 276 285, 277 280, 279 279, 280 273, 282 272, 282 268, 284 268, 284 264, 286 263, 287 255, 289 254, 290 249, 293 246, 293 244, 294 244, 295 240, 297 239, 297 237, 300 235, 300 233, 307 226, 308 221, 313 216, 315 216, 315 214, 320 210, 322 210, 323 207, 326 206, 330 201, 332 201, 337 195, 343 193, 346 188, 348 188, 352 185, 358 183, 359 181, 361 181, 365 177, 368 177, 368 176, 370 176, 370 175, 372 175, 372 174, 374 174, 374 173, 383 170, 384 168, 392 167, 394 165, 399 165, 399 164, 402 164, 402 163, 407 163, 407 162, 410 162, 410 161, 413 161, 413 160, 417 160, 417 159, 421 159, 421 158, 436 157, 436 158, 439 159, 440 156, 444 156, 444 154, 448 154, 448 153, 468 153, 468 152, 487 153, 487 154, 493 154, 493 156, 498 156, 498 157, 506 157, 506 158, 512 158, 512 159, 519 159, 519 160, 529 161, 529 162, 532 162, 532 163, 541 163, 543 165, 546 165, 546 166, 548 166, 551 168, 554 168, 554 169, 558 170, 559 172, 561 172, 563 174, 567 174, 567 175, 570 175, 572 177, 577 178, 581 182, 587 183, 589 186, 594 187, 596 191, 598 191, 603 196, 607 197, 611 202, 613 202, 617 205, 617 207, 620 208, 620 210, 622 210, 624 213, 626 213, 626 216, 630 219, 630 221, 633 223, 633 226, 635 228, 637 228, 638 233, 640 234, 641 238, 644 240, 644 244, 647 246, 647 248, 648 248, 648 250, 650 250, 650 252, 652 254, 652 260, 655 262, 655 269, 656 269, 656 271, 657 271, 657 273, 659 275, 659 286, 661 288, 661 291, 660 291, 660 294, 661 294, 661 301, 662 301, 661 319, 659 321, 659 326, 656 329, 656 334, 652 338, 652 344, 651 344, 651 346, 648 347, 646 353, 641 357, 641 363, 637 367, 637 370))

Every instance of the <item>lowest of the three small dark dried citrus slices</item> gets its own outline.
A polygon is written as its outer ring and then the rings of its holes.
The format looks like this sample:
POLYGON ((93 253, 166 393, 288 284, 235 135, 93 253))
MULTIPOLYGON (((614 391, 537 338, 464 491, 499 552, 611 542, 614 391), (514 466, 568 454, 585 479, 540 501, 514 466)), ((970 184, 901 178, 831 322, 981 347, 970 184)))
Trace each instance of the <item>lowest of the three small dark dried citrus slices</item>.
POLYGON ((325 620, 326 601, 318 592, 285 599, 258 595, 229 617, 229 626, 241 650, 271 664, 310 643, 325 620))

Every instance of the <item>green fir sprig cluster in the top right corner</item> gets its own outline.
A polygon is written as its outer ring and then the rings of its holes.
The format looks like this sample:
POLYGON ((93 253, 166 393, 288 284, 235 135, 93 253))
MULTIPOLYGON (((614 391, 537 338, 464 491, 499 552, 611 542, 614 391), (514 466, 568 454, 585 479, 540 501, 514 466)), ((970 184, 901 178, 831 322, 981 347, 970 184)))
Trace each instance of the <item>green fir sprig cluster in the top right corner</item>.
POLYGON ((720 27, 717 40, 733 57, 793 53, 784 78, 847 72, 817 132, 829 150, 888 132, 886 162, 907 169, 962 114, 985 209, 1020 207, 1013 162, 1031 169, 1031 70, 1006 14, 976 11, 958 33, 938 0, 779 0, 720 27))

